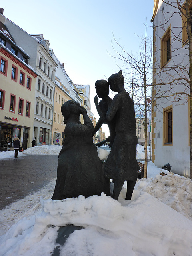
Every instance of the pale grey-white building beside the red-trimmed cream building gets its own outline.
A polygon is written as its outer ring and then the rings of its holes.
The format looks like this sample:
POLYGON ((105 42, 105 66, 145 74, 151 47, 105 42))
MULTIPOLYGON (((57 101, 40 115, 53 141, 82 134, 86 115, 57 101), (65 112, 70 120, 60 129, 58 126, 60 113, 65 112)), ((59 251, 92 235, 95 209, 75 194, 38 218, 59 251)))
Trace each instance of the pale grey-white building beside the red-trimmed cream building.
POLYGON ((49 41, 42 34, 30 35, 0 14, 16 43, 30 55, 29 65, 38 74, 34 98, 34 138, 36 146, 51 144, 53 97, 57 64, 52 58, 49 41))

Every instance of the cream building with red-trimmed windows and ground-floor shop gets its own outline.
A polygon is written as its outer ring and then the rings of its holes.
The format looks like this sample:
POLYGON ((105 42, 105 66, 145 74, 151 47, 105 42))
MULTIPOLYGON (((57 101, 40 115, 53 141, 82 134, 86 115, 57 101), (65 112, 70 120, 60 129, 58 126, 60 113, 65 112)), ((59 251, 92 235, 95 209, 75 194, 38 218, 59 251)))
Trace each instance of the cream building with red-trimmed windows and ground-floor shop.
POLYGON ((37 74, 30 56, 0 22, 0 150, 13 150, 19 137, 24 149, 33 140, 34 96, 37 74))

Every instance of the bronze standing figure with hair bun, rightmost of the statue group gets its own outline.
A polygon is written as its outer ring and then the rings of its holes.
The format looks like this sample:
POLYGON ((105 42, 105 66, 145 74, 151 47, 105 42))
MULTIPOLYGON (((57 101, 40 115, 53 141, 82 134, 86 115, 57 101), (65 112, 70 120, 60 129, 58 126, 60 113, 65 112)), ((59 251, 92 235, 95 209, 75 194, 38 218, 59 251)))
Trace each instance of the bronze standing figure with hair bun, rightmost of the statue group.
POLYGON ((124 181, 127 181, 126 200, 131 200, 134 186, 137 180, 139 165, 136 160, 136 121, 134 102, 124 88, 122 71, 113 74, 108 79, 110 89, 118 92, 114 96, 106 119, 111 121, 115 118, 116 136, 106 164, 104 175, 114 180, 112 198, 118 200, 124 181))

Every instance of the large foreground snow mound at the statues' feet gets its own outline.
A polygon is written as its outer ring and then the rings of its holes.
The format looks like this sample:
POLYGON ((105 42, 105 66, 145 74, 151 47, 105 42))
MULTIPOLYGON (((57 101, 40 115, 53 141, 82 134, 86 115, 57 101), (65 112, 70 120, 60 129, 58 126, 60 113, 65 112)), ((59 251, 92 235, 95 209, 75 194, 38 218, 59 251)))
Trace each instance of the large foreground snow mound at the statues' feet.
MULTIPOLYGON (((122 190, 121 198, 125 194, 122 190)), ((105 194, 41 199, 42 214, 20 220, 1 237, 0 255, 50 255, 59 226, 68 224, 83 229, 70 234, 61 255, 191 255, 190 220, 146 192, 121 201, 105 194)))

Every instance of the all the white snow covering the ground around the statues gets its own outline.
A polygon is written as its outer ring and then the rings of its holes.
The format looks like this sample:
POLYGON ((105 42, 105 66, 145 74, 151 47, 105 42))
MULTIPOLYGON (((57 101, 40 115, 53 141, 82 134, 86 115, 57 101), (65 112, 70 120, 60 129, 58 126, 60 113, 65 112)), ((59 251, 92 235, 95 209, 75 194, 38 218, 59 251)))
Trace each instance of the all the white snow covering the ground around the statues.
MULTIPOLYGON (((60 146, 41 146, 19 154, 59 151, 60 146)), ((100 158, 108 155, 98 153, 100 158)), ((13 152, 0 152, 0 158, 12 157, 13 152)), ((149 162, 148 178, 136 182, 131 201, 123 199, 126 182, 118 201, 105 194, 52 201, 52 180, 0 211, 0 255, 51 255, 59 226, 74 224, 84 228, 70 234, 60 255, 191 256, 192 181, 160 172, 149 162)))

